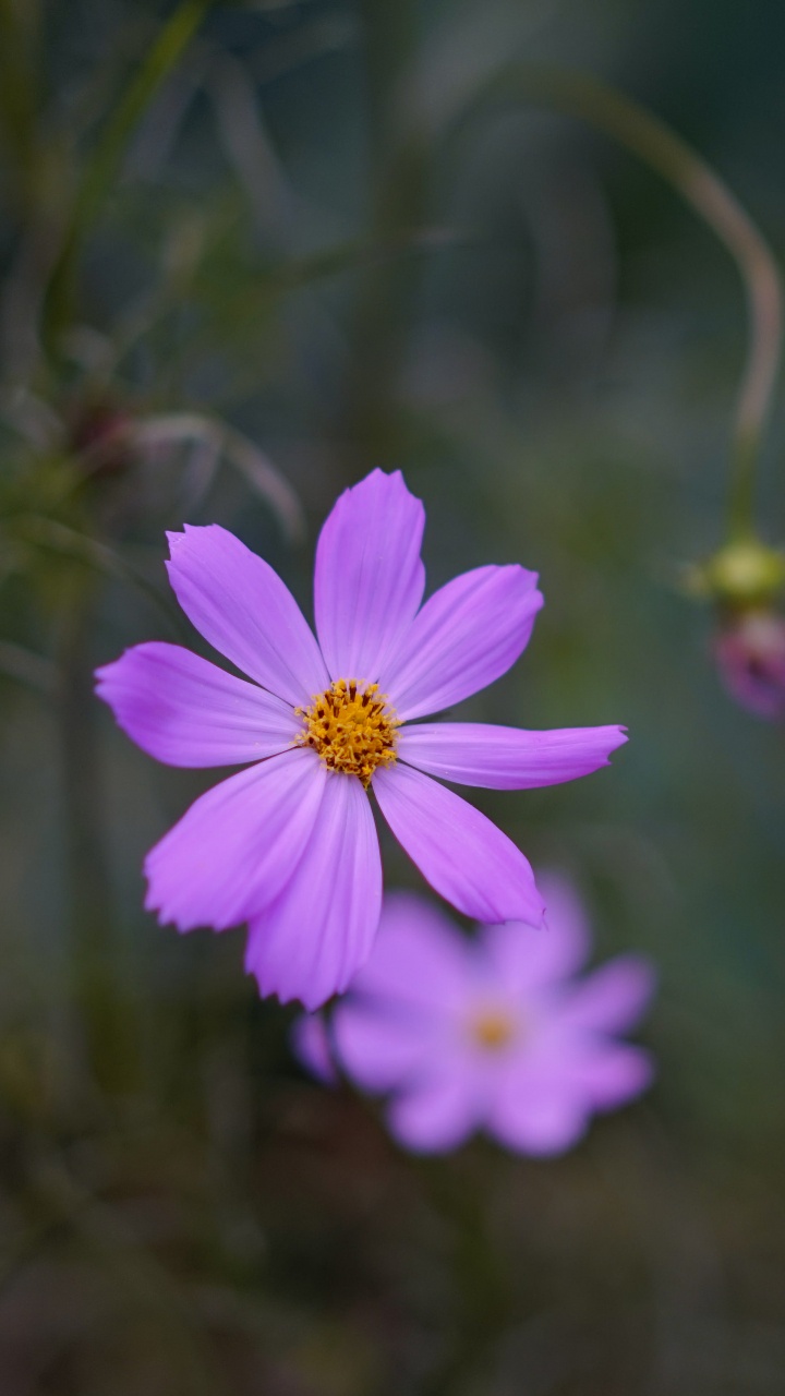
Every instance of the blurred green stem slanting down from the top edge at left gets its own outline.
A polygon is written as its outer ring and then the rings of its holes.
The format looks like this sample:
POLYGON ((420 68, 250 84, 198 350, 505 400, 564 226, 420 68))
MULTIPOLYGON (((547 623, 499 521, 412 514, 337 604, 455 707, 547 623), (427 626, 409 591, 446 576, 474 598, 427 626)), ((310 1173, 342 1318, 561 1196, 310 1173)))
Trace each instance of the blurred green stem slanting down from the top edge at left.
POLYGON ((212 3, 214 0, 180 0, 102 131, 87 163, 75 198, 71 228, 52 274, 45 313, 45 331, 49 338, 73 318, 82 242, 117 177, 129 140, 212 3))

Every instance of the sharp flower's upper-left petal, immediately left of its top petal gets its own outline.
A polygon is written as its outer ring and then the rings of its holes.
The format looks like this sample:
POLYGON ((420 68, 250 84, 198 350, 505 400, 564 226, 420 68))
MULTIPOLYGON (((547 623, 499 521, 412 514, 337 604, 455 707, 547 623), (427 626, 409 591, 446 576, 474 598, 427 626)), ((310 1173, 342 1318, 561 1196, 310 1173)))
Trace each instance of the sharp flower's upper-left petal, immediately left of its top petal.
POLYGON ((186 524, 168 539, 177 600, 221 655, 295 708, 328 687, 303 613, 261 557, 218 524, 186 524))

